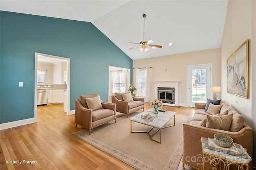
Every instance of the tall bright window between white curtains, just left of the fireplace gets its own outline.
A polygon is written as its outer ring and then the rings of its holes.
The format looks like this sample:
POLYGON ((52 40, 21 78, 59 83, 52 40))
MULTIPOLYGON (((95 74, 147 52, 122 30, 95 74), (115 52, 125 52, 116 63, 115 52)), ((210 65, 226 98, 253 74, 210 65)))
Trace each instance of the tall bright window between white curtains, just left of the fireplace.
POLYGON ((146 70, 146 68, 138 68, 137 78, 138 78, 137 95, 140 97, 146 97, 146 91, 147 91, 147 70, 146 70))

